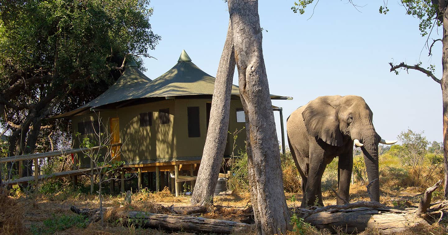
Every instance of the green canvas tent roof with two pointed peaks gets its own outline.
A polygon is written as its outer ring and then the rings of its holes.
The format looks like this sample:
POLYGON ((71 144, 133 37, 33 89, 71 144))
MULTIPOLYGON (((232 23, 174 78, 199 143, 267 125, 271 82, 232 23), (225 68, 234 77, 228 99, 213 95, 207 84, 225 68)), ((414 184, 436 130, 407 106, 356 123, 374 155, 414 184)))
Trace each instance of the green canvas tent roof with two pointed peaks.
MULTIPOLYGON (((99 97, 78 109, 54 118, 72 116, 86 109, 139 98, 213 95, 214 88, 215 78, 191 62, 190 56, 182 50, 177 64, 155 80, 151 81, 146 77, 134 63, 127 67, 116 83, 99 97)), ((239 96, 239 94, 238 86, 232 85, 232 95, 239 96)), ((271 99, 285 100, 290 97, 271 95, 271 99)))

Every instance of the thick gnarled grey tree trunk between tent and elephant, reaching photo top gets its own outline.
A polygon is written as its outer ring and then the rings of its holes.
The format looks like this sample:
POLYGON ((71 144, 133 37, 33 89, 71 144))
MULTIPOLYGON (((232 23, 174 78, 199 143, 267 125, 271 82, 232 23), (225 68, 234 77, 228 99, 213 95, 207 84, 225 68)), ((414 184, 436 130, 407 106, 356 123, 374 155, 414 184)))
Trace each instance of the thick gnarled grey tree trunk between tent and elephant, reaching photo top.
POLYGON ((262 50, 257 0, 229 0, 240 96, 246 114, 251 198, 258 234, 285 233, 290 213, 262 50))

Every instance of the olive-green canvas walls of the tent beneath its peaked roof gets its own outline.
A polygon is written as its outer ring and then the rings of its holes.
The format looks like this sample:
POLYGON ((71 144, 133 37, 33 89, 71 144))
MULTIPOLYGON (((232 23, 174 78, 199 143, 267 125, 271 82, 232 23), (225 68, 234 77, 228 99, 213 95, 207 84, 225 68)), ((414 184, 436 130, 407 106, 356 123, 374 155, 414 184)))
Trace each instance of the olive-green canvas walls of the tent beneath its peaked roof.
MULTIPOLYGON (((148 164, 153 162, 169 162, 172 160, 198 160, 201 159, 202 151, 207 136, 207 103, 211 99, 168 99, 142 105, 114 109, 111 111, 100 111, 72 117, 73 133, 78 130, 79 122, 94 121, 101 119, 106 139, 111 132, 111 118, 119 118, 121 160, 126 164, 148 164), (188 135, 188 107, 199 107, 200 136, 189 137, 188 135), (159 118, 160 109, 169 109, 169 123, 161 124, 159 118), (151 126, 140 126, 140 114, 150 113, 151 126)), ((240 100, 232 100, 230 105, 229 127, 230 132, 241 130, 244 122, 237 122, 237 110, 241 109, 240 100)), ((88 137, 96 140, 95 134, 85 134, 74 137, 74 147, 79 147, 83 138, 88 137)), ((238 155, 239 149, 245 149, 246 130, 238 134, 234 154, 238 155)), ((109 139, 110 141, 110 139, 109 139)), ((224 155, 231 155, 233 149, 233 135, 228 134, 227 146, 224 155)), ((102 142, 103 144, 104 141, 102 142)), ((90 159, 79 154, 81 167, 90 167, 90 159)))

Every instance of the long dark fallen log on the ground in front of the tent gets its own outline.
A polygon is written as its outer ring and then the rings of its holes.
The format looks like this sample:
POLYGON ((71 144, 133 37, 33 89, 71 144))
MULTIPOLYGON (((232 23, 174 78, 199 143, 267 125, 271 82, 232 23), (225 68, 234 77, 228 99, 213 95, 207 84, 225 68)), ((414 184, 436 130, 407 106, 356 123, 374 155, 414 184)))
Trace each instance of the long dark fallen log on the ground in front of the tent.
MULTIPOLYGON (((70 209, 77 214, 90 218, 90 221, 96 221, 96 218, 98 217, 97 214, 99 214, 98 209, 78 209, 75 206, 72 206, 70 209)), ((103 212, 106 210, 112 210, 112 208, 104 208, 103 212)), ((251 229, 251 225, 246 223, 178 214, 154 214, 143 211, 119 211, 116 213, 116 216, 118 218, 126 218, 123 221, 128 224, 137 225, 138 227, 151 227, 168 231, 232 234, 242 233, 251 229)))

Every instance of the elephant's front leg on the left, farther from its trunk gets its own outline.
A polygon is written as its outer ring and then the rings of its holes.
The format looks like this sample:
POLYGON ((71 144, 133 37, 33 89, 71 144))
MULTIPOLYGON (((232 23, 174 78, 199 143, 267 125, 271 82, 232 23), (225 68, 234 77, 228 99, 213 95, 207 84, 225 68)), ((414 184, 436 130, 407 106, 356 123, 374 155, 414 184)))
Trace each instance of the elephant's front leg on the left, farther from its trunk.
POLYGON ((314 206, 314 204, 317 204, 317 206, 323 206, 322 196, 320 196, 321 198, 319 200, 322 175, 325 167, 327 166, 323 162, 323 155, 324 151, 319 147, 319 145, 316 144, 314 146, 310 146, 310 163, 305 189, 306 202, 305 205, 302 205, 301 207, 314 206))

